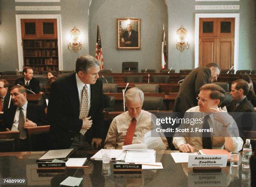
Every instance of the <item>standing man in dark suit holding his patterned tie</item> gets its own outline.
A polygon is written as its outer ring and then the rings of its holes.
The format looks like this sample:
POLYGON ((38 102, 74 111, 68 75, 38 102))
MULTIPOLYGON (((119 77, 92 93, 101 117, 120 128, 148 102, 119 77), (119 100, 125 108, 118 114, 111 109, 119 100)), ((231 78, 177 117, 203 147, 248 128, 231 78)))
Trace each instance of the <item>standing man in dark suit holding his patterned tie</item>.
POLYGON ((52 149, 99 147, 103 136, 103 92, 100 62, 90 55, 77 59, 76 72, 51 85, 47 108, 52 149))

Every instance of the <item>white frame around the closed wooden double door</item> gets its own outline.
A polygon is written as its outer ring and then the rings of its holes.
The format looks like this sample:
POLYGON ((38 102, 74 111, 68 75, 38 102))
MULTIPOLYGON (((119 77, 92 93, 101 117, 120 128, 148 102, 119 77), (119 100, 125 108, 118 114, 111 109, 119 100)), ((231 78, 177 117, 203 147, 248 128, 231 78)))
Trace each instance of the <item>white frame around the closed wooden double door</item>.
POLYGON ((199 64, 199 18, 205 17, 234 17, 235 18, 235 44, 234 44, 234 70, 238 69, 238 49, 239 49, 239 13, 217 13, 217 14, 195 14, 195 68, 199 64))

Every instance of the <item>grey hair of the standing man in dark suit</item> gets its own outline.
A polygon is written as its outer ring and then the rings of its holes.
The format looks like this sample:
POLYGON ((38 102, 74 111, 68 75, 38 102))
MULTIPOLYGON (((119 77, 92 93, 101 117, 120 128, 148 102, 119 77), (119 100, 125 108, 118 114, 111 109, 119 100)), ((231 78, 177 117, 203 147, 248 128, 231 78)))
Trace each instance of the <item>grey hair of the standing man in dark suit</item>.
POLYGON ((92 57, 91 55, 82 55, 77 58, 76 73, 79 71, 88 73, 92 67, 98 67, 99 65, 100 62, 95 57, 92 57))

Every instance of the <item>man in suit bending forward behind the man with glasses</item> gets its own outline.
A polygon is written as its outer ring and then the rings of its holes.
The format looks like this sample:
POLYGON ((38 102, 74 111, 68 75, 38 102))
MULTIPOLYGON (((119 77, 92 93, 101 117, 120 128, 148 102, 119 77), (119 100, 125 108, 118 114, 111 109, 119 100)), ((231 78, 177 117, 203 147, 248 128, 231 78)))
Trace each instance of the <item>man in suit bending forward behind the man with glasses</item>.
POLYGON ((189 73, 180 85, 173 112, 186 112, 189 108, 197 106, 196 97, 200 87, 216 81, 220 74, 220 67, 216 63, 208 63, 206 67, 197 67, 189 73))

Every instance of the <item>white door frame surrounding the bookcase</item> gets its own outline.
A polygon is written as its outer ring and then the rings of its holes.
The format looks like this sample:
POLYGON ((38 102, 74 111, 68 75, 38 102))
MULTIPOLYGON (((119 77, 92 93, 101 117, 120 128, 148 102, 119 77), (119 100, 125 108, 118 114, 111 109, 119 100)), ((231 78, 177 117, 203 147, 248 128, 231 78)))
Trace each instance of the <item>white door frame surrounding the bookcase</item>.
POLYGON ((59 57, 59 70, 63 70, 62 61, 62 42, 61 42, 61 15, 60 14, 16 14, 16 32, 17 32, 17 45, 18 45, 18 65, 19 71, 23 70, 23 47, 21 45, 21 23, 20 19, 57 19, 57 33, 58 33, 58 57, 59 57))

